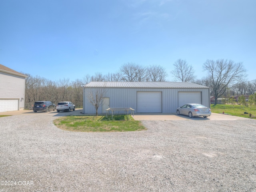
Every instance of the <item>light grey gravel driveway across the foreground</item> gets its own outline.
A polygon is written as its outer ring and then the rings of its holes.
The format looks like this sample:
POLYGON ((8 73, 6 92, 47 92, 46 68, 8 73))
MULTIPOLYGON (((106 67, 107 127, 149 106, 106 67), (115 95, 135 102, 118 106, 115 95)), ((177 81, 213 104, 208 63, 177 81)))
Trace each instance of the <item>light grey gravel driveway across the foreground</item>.
POLYGON ((46 114, 0 118, 0 192, 256 192, 256 120, 142 120, 146 131, 84 133, 46 114))

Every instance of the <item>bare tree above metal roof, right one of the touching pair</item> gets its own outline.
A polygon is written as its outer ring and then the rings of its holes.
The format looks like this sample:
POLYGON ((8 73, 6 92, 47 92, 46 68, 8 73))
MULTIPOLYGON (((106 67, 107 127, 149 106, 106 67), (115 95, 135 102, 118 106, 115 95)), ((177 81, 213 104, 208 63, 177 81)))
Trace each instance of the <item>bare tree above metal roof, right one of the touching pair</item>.
POLYGON ((153 82, 164 82, 166 81, 166 77, 168 76, 165 68, 161 66, 149 66, 147 68, 147 81, 153 82))

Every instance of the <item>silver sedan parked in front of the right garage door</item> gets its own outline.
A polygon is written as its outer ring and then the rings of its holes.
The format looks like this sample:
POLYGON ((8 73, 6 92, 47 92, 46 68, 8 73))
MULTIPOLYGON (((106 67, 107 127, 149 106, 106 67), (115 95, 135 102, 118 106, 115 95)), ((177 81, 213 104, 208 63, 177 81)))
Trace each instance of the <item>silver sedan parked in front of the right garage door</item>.
POLYGON ((185 104, 177 108, 177 114, 188 115, 190 118, 194 116, 203 116, 204 118, 210 116, 211 109, 201 104, 185 104))

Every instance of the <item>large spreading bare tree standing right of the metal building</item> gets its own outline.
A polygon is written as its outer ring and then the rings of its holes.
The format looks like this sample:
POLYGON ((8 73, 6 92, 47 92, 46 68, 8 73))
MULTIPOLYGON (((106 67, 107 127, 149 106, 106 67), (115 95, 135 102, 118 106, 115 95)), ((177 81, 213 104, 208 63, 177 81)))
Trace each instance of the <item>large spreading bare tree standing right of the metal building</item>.
POLYGON ((214 104, 217 104, 217 99, 228 88, 234 87, 236 83, 241 82, 246 76, 244 65, 241 62, 234 63, 232 60, 206 60, 203 69, 208 72, 211 80, 213 95, 215 97, 214 104))

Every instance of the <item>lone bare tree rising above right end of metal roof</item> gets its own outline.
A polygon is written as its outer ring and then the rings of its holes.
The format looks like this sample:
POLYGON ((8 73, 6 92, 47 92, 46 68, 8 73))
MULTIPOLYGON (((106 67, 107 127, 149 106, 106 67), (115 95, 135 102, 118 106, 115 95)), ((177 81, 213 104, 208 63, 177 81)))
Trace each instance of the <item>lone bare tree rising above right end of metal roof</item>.
POLYGON ((174 81, 192 82, 196 78, 194 68, 188 65, 186 60, 178 59, 173 65, 174 70, 171 74, 174 76, 174 81))

